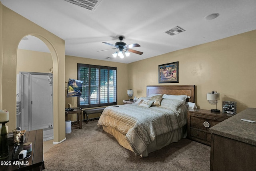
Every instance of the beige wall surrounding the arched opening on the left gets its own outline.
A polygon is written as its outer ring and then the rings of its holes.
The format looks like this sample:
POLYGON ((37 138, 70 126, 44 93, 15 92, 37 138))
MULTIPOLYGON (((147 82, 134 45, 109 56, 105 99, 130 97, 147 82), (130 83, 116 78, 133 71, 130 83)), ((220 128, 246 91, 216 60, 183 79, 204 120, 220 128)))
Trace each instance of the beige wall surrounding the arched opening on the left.
POLYGON ((20 40, 36 36, 49 48, 54 67, 54 143, 66 139, 65 134, 65 42, 0 3, 0 108, 9 111, 10 128, 16 127, 16 62, 20 40))

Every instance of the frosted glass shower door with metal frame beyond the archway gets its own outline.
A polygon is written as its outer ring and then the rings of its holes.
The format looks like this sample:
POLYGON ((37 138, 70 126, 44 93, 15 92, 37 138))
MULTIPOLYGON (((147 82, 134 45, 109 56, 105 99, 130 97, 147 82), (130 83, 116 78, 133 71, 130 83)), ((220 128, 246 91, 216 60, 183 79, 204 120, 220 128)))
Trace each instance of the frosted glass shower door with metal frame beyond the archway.
POLYGON ((22 72, 21 127, 28 131, 53 127, 52 74, 22 72))

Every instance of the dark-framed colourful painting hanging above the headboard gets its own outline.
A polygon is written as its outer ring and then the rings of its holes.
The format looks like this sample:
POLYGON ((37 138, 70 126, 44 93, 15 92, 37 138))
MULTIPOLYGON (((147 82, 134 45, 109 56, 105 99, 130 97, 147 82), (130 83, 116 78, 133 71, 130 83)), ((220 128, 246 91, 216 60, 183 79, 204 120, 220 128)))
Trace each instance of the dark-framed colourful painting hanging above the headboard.
POLYGON ((179 62, 162 64, 158 66, 158 83, 178 83, 179 62))

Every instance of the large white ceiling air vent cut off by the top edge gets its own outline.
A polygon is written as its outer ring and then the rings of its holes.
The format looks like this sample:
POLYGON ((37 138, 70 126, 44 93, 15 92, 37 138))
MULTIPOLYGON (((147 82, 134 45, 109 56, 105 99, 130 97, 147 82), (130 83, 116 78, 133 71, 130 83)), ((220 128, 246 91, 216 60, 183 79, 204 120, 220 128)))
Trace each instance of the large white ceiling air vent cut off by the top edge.
POLYGON ((94 12, 102 0, 64 0, 94 12))

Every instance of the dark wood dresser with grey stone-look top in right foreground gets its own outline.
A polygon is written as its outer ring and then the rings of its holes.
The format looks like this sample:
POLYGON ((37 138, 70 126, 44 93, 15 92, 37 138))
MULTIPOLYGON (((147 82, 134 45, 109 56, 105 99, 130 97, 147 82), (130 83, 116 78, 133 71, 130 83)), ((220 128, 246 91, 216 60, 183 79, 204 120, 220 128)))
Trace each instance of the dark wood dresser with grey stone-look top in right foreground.
POLYGON ((256 108, 248 108, 210 128, 211 171, 256 171, 256 108))

